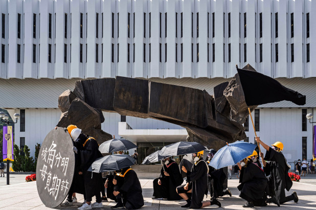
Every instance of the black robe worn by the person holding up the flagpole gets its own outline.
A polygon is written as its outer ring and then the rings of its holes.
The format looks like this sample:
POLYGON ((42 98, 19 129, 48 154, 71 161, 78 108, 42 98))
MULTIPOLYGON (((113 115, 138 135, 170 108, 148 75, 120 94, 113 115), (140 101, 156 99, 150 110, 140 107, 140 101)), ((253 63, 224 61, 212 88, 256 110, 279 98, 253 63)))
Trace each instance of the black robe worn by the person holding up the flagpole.
POLYGON ((275 195, 280 204, 293 200, 292 196, 285 196, 284 189, 289 191, 293 183, 288 176, 289 167, 284 155, 270 148, 265 153, 264 160, 269 161, 263 167, 266 176, 270 175, 268 179, 269 196, 273 197, 275 195))

